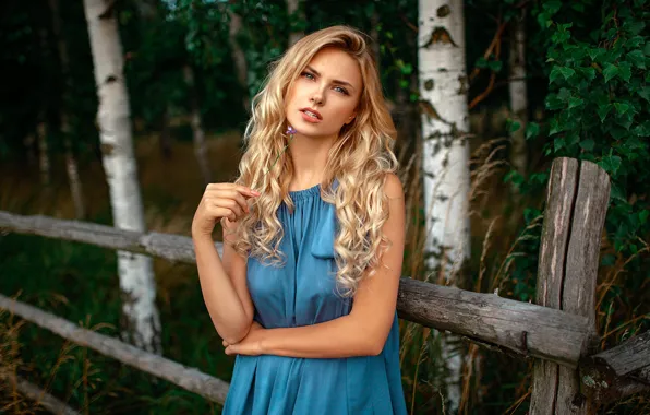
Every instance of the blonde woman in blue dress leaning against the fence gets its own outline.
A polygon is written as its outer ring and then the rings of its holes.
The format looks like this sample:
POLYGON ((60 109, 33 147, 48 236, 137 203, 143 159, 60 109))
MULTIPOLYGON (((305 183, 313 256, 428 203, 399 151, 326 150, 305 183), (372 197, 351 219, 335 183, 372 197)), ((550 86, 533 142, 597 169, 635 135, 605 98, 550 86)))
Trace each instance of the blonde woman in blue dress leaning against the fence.
POLYGON ((237 355, 224 414, 406 414, 404 192, 370 50, 345 26, 292 46, 254 99, 239 178, 198 204, 201 288, 237 355))

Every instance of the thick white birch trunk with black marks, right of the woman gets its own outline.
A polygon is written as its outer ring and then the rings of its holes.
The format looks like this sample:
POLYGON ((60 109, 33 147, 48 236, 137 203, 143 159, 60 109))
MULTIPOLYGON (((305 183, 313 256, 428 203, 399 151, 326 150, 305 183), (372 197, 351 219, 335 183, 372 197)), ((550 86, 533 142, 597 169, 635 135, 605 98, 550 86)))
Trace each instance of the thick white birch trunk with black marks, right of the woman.
MULTIPOLYGON (((420 0, 418 60, 422 110, 428 268, 447 285, 470 253, 469 118, 461 0, 420 0)), ((440 281, 438 281, 440 283, 440 281)), ((438 333, 437 335, 441 335, 438 333)), ((458 339, 443 335, 450 412, 460 402, 458 339)))

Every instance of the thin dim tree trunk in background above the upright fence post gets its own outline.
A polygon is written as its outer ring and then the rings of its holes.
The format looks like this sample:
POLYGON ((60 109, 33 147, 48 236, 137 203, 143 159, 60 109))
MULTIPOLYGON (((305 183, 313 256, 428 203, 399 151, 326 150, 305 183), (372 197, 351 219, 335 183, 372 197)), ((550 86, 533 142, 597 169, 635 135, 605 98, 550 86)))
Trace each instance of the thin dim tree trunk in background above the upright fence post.
POLYGON ((521 127, 513 132, 510 163, 521 175, 526 175, 528 150, 526 146, 526 124, 528 122, 528 98, 526 90, 526 9, 520 19, 513 20, 510 36, 510 117, 521 127))

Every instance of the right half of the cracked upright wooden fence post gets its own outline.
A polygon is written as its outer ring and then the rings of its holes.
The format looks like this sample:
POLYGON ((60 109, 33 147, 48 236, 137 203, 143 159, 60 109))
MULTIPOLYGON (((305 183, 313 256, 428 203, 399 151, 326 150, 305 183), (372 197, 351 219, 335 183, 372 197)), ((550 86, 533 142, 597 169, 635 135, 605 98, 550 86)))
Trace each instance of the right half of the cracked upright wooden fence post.
MULTIPOLYGON (((610 177, 598 165, 581 162, 578 194, 573 212, 562 289, 562 310, 589 319, 592 334, 580 351, 582 356, 598 348, 595 330, 595 286, 600 263, 601 235, 610 203, 610 177)), ((558 368, 556 411, 561 414, 589 414, 591 401, 580 392, 576 370, 558 368)))

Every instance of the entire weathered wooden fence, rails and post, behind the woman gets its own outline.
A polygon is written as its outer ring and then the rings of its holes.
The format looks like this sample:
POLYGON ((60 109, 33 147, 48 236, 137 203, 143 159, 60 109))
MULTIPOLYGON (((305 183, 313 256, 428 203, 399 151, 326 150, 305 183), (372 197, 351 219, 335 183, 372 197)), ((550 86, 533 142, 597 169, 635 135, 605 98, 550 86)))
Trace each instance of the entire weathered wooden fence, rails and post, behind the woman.
MULTIPOLYGON (((553 163, 539 258, 538 304, 404 277, 397 300, 399 317, 521 358, 537 358, 530 410, 533 415, 591 414, 598 405, 650 390, 650 332, 597 353, 600 339, 594 298, 609 195, 610 179, 595 164, 571 158, 553 163)), ((141 234, 2 211, 0 232, 195 263, 191 238, 179 235, 141 234)), ((216 246, 221 251, 221 245, 216 246)), ((228 392, 228 383, 220 379, 3 295, 0 308, 208 400, 224 403, 228 392)), ((20 381, 13 380, 14 384, 20 381)), ((65 411, 60 413, 73 413, 65 411)))

